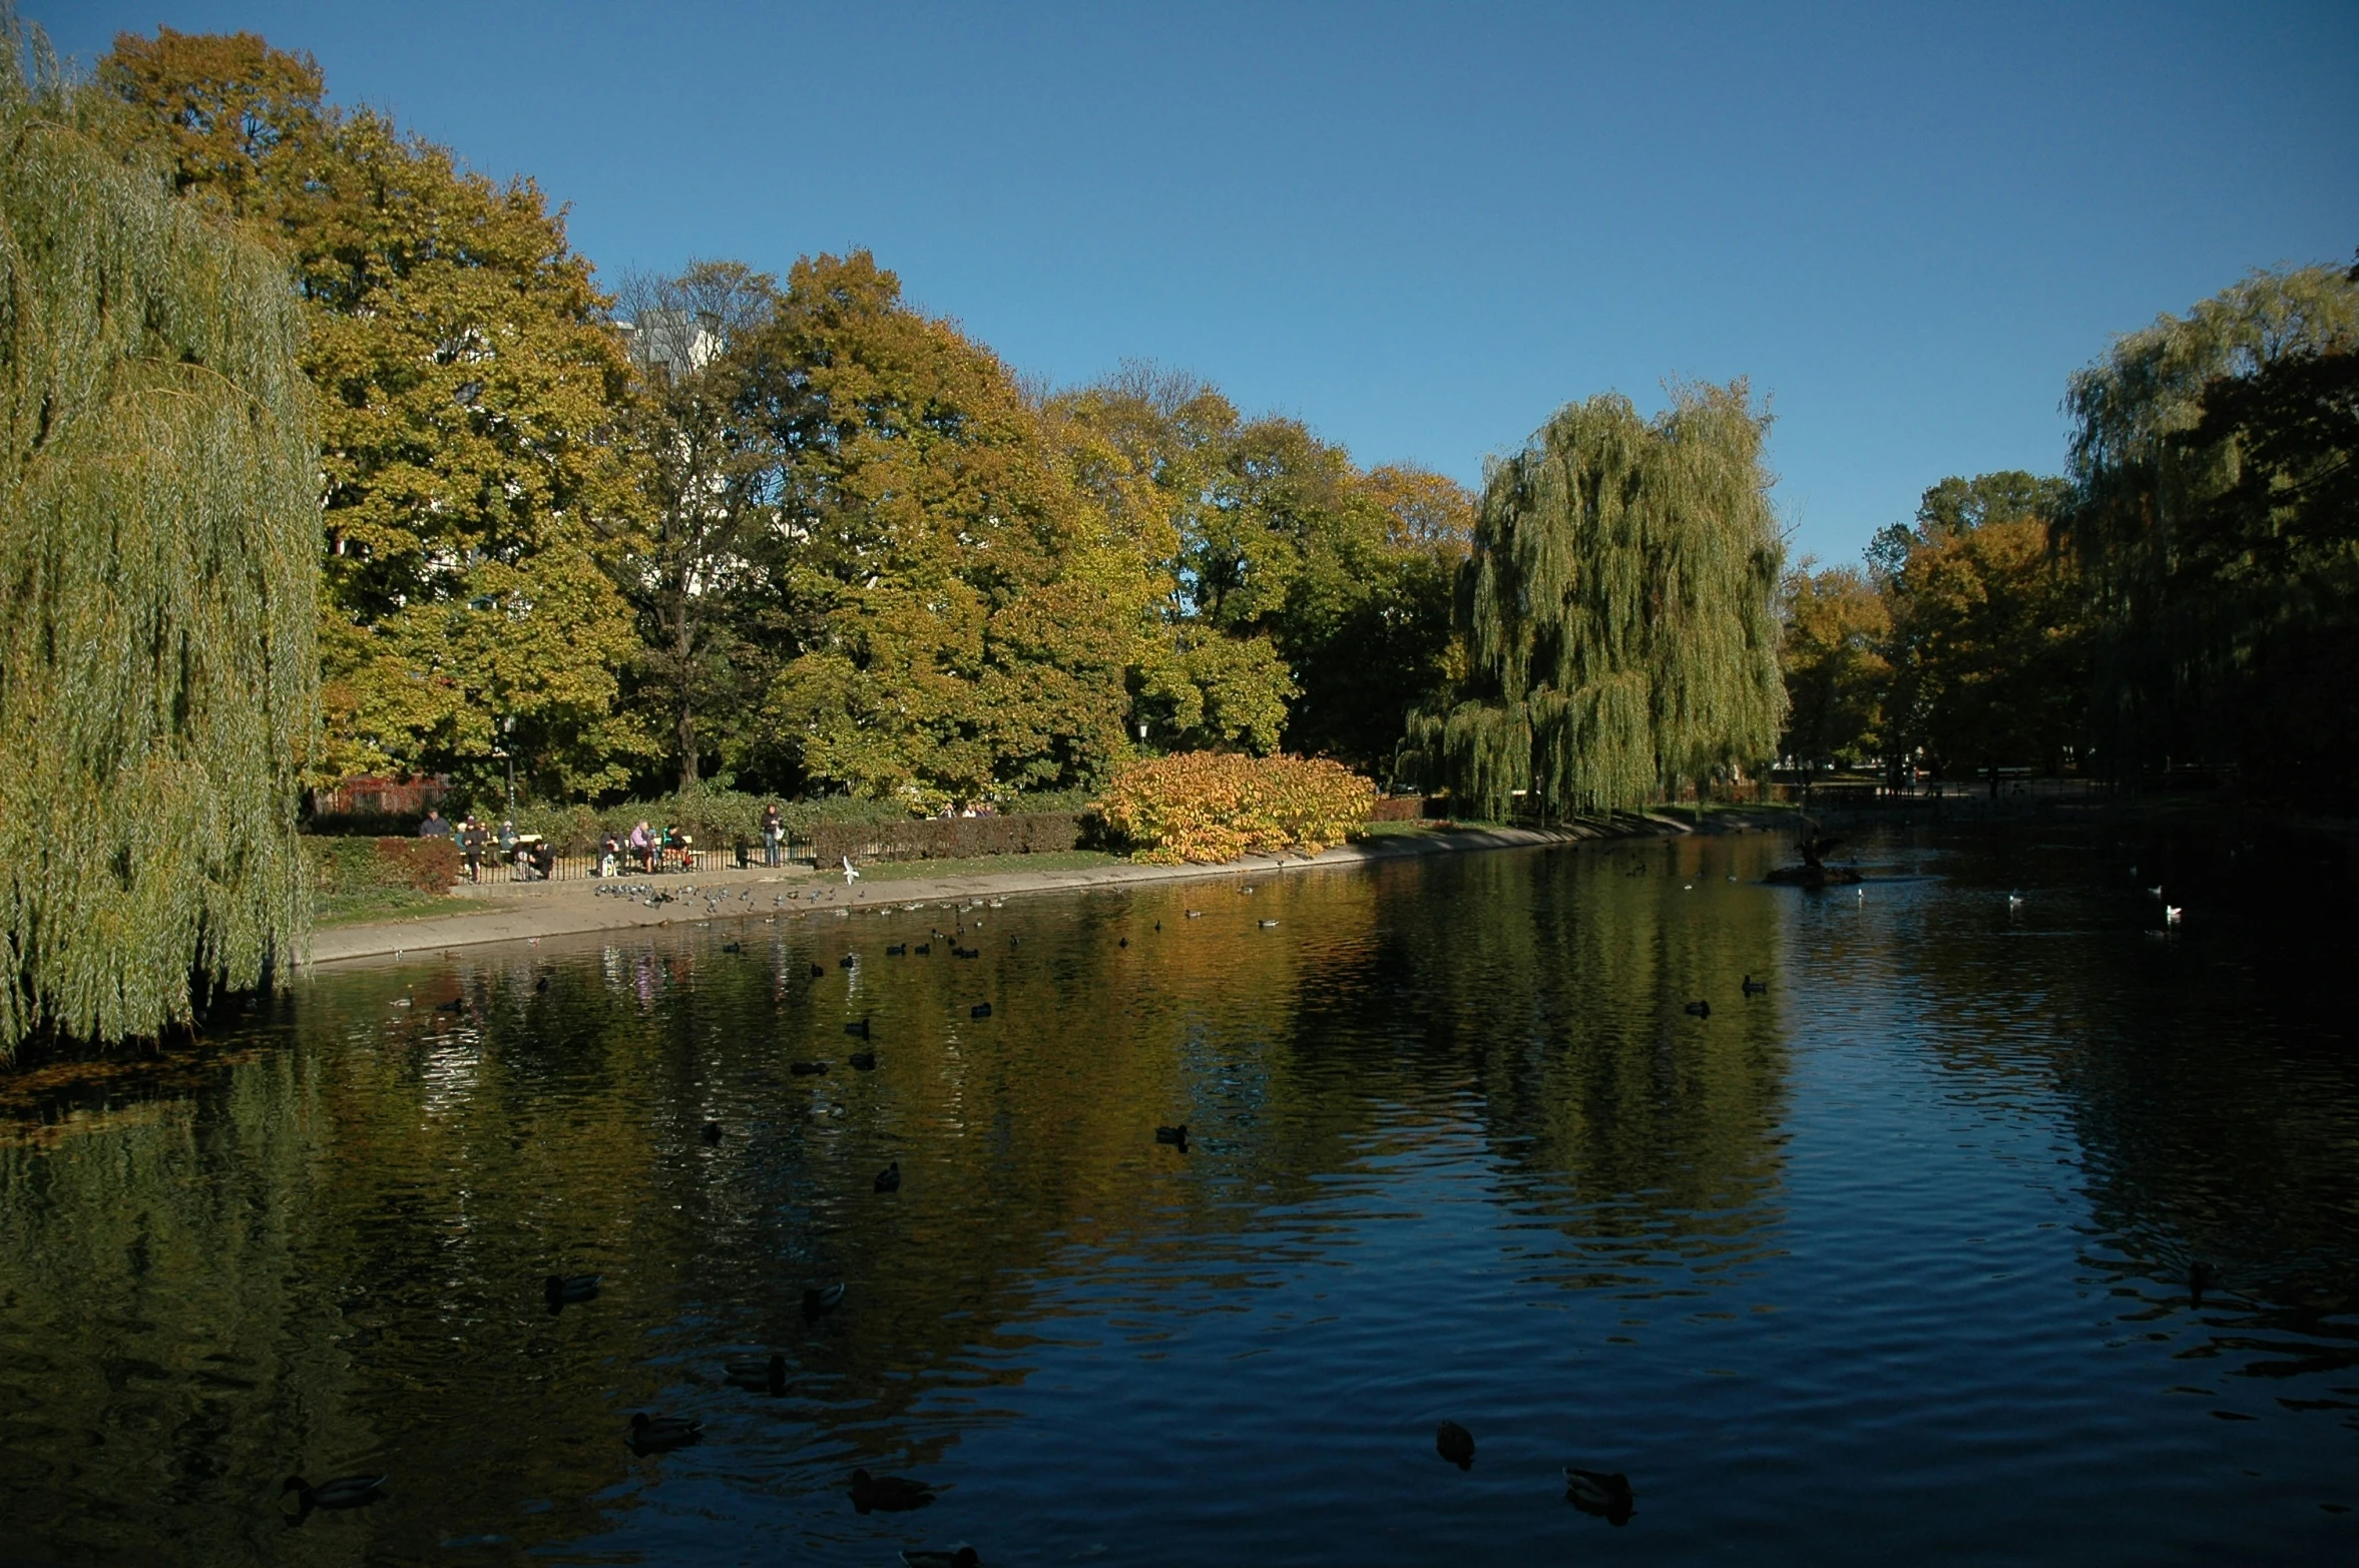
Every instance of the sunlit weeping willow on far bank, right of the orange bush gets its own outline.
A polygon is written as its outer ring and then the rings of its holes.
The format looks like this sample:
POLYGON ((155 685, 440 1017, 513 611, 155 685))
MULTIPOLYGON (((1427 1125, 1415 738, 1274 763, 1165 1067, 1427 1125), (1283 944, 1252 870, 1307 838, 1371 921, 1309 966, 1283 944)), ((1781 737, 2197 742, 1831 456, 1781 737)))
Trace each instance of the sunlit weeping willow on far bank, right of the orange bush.
POLYGON ((1765 429, 1743 382, 1684 387, 1656 420, 1606 394, 1493 465, 1458 582, 1467 672, 1413 714, 1413 766, 1484 816, 1519 790, 1569 816, 1767 759, 1786 691, 1765 429))

